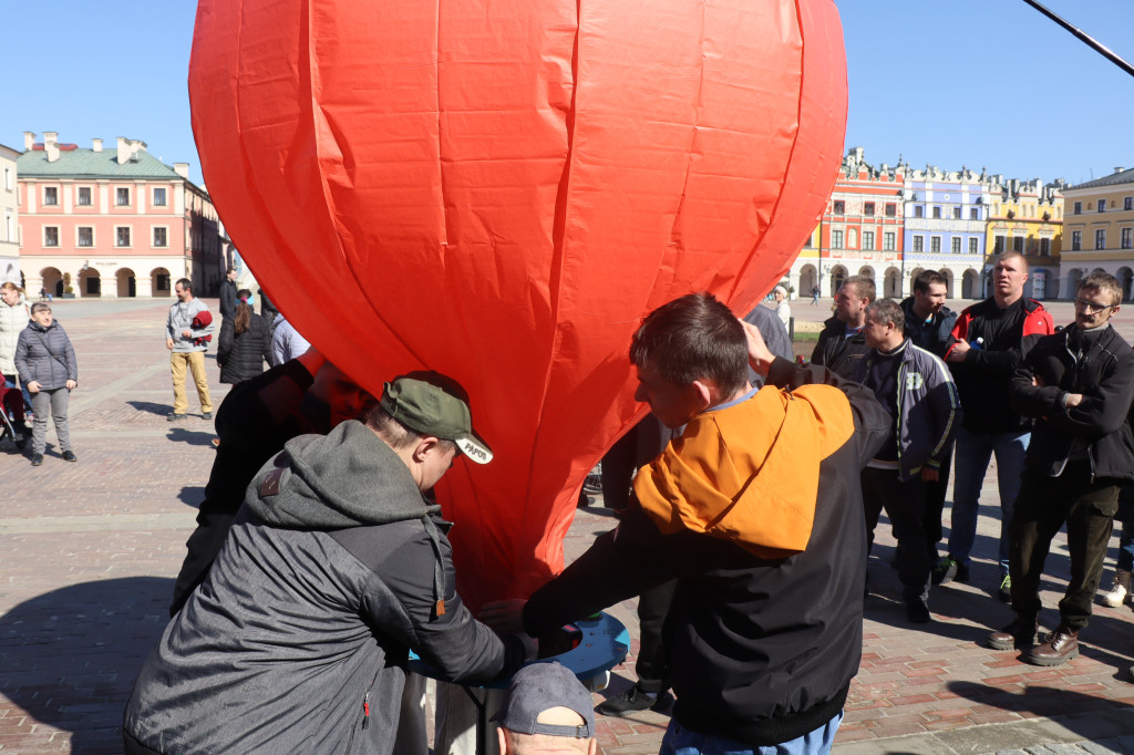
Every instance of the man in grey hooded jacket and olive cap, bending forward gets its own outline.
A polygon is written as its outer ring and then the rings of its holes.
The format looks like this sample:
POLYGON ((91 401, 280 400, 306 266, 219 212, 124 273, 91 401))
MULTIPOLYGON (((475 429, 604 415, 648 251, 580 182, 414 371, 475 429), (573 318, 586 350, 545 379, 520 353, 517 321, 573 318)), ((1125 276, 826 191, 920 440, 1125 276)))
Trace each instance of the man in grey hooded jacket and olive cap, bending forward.
POLYGON ((492 458, 437 373, 288 441, 143 667, 126 752, 390 753, 411 650, 451 681, 517 669, 525 643, 462 603, 450 525, 422 495, 458 452, 492 458))

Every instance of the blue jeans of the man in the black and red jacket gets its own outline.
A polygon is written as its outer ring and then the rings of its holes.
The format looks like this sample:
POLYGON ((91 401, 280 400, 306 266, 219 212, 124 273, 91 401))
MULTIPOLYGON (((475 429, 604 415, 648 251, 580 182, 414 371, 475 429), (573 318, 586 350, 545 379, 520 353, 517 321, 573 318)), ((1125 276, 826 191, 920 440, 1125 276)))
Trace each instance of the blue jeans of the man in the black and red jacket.
POLYGON ((978 501, 989 460, 996 453, 997 483, 1000 489, 1000 572, 1008 574, 1008 525, 1012 507, 1019 493, 1024 458, 1031 433, 978 434, 962 427, 957 431, 956 466, 953 487, 953 525, 949 532, 949 555, 968 565, 973 541, 976 540, 978 501))

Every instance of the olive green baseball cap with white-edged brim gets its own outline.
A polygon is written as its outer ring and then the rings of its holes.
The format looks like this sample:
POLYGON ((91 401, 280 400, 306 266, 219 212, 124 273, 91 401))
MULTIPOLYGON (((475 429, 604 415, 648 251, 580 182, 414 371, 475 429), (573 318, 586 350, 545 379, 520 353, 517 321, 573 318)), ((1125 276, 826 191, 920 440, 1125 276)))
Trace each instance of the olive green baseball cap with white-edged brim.
POLYGON ((406 427, 456 442, 471 461, 492 460, 492 449, 473 431, 468 393, 451 378, 433 371, 395 378, 386 383, 379 404, 406 427))

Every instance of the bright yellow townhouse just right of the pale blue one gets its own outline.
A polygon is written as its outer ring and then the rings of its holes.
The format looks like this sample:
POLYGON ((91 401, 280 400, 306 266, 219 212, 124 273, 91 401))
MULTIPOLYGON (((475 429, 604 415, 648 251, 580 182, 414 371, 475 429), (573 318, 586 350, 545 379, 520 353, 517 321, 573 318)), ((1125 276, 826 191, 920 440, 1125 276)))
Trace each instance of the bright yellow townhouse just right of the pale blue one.
POLYGON ((1063 180, 1041 184, 992 177, 992 198, 985 231, 989 255, 1019 252, 1031 277, 1024 295, 1035 299, 1060 296, 1059 262, 1063 247, 1063 180))

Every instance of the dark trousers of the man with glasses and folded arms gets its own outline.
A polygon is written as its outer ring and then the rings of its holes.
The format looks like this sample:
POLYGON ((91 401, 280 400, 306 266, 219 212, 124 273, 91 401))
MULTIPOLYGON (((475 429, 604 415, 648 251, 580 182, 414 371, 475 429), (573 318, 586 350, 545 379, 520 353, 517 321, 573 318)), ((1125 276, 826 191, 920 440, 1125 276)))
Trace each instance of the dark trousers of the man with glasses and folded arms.
POLYGON ((1024 470, 1009 529, 1012 606, 1018 617, 1039 616, 1043 562, 1051 540, 1066 523, 1070 580, 1059 601, 1059 618, 1076 630, 1088 625, 1120 489, 1120 481, 1109 477, 1092 482, 1086 460, 1069 463, 1058 477, 1024 470))

